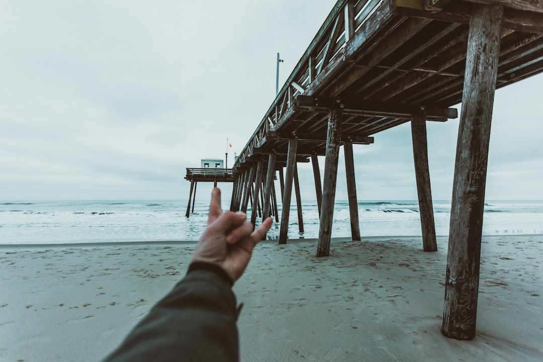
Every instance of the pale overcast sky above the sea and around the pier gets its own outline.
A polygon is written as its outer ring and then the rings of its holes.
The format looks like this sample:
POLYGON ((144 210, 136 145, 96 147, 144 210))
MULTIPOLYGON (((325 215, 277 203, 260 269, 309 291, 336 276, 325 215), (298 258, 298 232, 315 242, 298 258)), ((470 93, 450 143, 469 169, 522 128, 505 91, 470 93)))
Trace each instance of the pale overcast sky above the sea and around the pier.
MULTIPOLYGON (((185 168, 223 158, 227 138, 232 165, 274 99, 276 53, 282 85, 334 3, 0 1, 0 201, 186 199, 185 168)), ((543 200, 542 81, 496 92, 487 200, 543 200)), ((458 119, 428 123, 436 200, 457 134, 458 119)), ((409 124, 354 151, 359 199, 416 199, 409 124)))

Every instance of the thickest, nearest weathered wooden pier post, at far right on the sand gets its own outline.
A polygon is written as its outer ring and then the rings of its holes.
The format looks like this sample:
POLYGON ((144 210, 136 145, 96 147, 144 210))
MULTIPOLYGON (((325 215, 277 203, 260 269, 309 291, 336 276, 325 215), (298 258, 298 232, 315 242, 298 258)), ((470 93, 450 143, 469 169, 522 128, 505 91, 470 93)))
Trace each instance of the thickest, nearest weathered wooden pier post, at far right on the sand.
POLYGON ((484 192, 503 7, 473 4, 452 190, 441 333, 475 337, 484 192))

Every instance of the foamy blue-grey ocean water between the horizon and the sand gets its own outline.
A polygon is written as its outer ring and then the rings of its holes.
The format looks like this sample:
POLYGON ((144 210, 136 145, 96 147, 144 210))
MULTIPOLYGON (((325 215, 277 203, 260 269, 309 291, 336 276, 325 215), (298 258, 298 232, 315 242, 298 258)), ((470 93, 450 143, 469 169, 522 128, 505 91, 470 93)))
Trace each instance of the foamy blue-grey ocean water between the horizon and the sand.
MULTIPOLYGON (((197 202, 187 219, 186 200, 0 202, 0 244, 198 240, 206 225, 208 207, 207 202, 197 202)), ((228 205, 223 204, 223 209, 228 205)), ((450 209, 450 201, 434 200, 438 236, 449 234, 450 209)), ((419 206, 414 200, 359 201, 358 212, 363 237, 421 235, 419 206)), ((317 238, 316 203, 302 202, 302 215, 304 232, 299 231, 294 202, 288 237, 317 238)), ((274 223, 268 238, 279 238, 279 228, 280 223, 274 223)), ((543 201, 485 204, 484 235, 540 233, 543 201)), ((337 200, 332 237, 349 236, 349 204, 337 200)))

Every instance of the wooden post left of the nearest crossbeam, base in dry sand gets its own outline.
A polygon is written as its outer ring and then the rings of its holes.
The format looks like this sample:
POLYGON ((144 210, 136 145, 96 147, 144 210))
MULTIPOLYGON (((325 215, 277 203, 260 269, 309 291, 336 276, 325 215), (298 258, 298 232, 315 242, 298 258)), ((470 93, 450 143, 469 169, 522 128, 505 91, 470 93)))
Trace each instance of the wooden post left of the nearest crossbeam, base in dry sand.
POLYGON ((328 131, 326 135, 323 205, 321 206, 320 214, 317 257, 330 255, 330 239, 332 236, 334 201, 336 200, 339 141, 341 139, 342 121, 343 113, 341 109, 333 109, 330 111, 328 115, 328 131))

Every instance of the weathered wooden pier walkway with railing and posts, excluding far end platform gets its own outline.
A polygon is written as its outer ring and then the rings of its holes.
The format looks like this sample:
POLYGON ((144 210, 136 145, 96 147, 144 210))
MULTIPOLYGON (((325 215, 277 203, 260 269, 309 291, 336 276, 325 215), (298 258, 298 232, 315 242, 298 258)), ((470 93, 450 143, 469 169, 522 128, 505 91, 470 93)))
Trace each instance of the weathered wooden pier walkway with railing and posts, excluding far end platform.
POLYGON ((494 92, 542 69, 543 0, 339 0, 239 154, 231 209, 252 193, 268 215, 270 175, 279 170, 279 243, 286 243, 296 163, 311 160, 317 256, 327 256, 340 146, 352 239, 360 240, 353 144, 370 145, 378 132, 411 122, 422 243, 435 251, 426 122, 457 118, 450 107, 462 102, 442 332, 472 339, 494 92), (322 183, 317 155, 326 156, 322 183))

